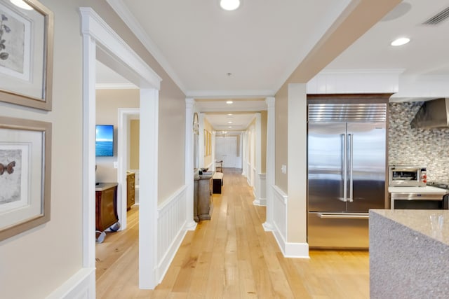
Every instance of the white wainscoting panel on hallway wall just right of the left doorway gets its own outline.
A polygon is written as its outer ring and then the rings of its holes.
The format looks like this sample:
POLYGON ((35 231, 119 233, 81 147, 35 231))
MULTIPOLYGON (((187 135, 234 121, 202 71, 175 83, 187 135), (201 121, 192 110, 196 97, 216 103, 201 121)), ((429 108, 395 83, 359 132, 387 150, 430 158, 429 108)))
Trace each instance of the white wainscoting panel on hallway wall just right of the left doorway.
POLYGON ((166 274, 187 232, 185 230, 185 224, 187 223, 185 212, 187 209, 186 190, 187 186, 183 186, 158 208, 157 273, 159 283, 166 274))

